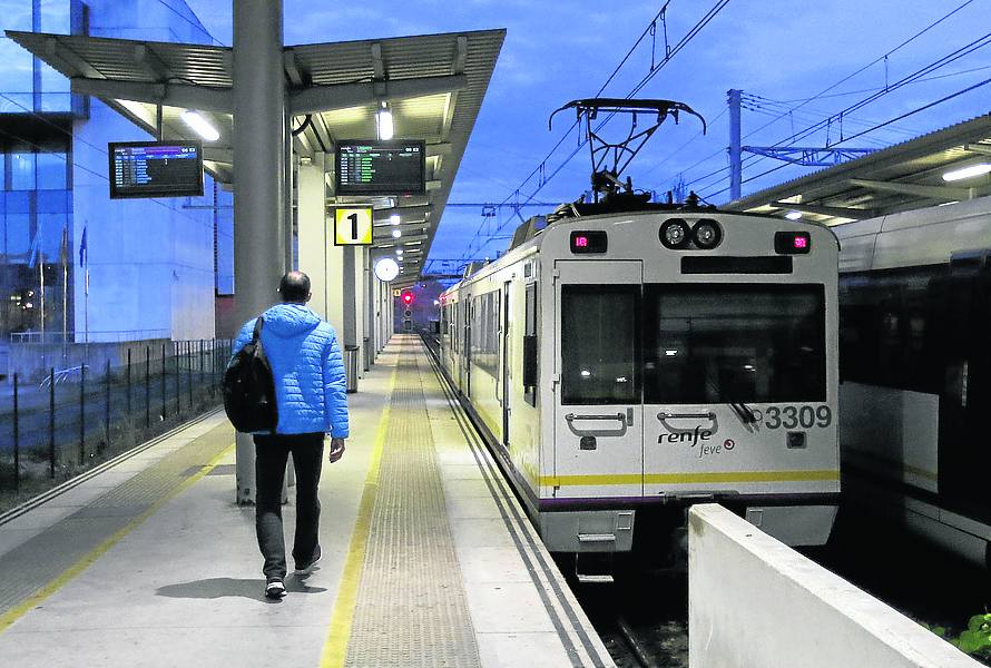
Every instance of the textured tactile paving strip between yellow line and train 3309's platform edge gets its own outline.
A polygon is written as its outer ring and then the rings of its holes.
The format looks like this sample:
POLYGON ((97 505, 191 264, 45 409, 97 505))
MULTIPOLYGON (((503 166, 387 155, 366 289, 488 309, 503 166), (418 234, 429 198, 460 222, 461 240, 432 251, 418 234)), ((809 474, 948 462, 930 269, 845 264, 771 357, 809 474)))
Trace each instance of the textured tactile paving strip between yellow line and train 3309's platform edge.
POLYGON ((346 666, 481 665, 426 424, 419 350, 401 344, 346 666))

